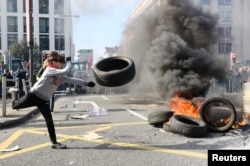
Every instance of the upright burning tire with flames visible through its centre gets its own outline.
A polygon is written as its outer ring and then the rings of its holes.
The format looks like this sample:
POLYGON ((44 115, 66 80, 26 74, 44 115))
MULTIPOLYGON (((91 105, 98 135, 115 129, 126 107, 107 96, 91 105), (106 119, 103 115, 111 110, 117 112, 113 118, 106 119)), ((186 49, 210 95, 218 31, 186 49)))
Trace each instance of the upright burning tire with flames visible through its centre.
POLYGON ((209 131, 226 132, 232 128, 236 120, 236 111, 233 104, 224 98, 211 98, 202 103, 201 119, 207 124, 209 131))

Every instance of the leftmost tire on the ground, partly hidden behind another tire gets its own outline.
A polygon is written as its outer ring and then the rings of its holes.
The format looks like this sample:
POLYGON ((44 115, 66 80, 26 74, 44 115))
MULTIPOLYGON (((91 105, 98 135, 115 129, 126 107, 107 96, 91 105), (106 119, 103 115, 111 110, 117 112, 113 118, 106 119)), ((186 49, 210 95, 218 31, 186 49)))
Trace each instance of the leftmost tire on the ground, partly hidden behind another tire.
POLYGON ((173 111, 155 111, 148 115, 148 123, 150 125, 163 125, 163 123, 168 122, 173 116, 173 111))

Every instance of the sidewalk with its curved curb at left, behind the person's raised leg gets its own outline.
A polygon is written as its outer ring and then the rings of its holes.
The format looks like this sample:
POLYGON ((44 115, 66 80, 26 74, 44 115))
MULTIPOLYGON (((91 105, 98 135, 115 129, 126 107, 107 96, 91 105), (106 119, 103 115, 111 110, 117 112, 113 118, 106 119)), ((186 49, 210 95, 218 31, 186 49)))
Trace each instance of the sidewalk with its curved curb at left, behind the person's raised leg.
POLYGON ((30 107, 26 109, 21 109, 21 110, 13 110, 11 107, 11 100, 7 99, 7 104, 6 104, 6 116, 2 116, 2 105, 3 101, 0 98, 0 130, 6 129, 9 127, 14 127, 19 124, 22 124, 32 117, 36 116, 39 113, 39 110, 37 107, 30 107))

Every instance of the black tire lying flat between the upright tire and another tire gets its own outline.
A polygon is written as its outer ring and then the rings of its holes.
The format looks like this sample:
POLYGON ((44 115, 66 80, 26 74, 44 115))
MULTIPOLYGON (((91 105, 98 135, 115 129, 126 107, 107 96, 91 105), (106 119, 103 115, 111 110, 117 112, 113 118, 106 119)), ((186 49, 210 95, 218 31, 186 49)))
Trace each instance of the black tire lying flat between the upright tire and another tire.
POLYGON ((173 133, 182 134, 186 137, 195 138, 207 134, 206 123, 191 116, 174 115, 170 119, 169 126, 173 133))

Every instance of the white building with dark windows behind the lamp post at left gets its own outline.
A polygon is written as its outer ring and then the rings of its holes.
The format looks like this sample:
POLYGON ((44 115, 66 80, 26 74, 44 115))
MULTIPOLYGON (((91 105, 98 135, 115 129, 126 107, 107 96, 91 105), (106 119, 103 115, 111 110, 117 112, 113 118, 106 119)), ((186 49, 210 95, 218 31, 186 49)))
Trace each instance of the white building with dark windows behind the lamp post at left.
MULTIPOLYGON (((74 56, 70 0, 32 0, 33 36, 40 50, 74 56)), ((27 36, 26 0, 0 1, 0 53, 27 36)))

